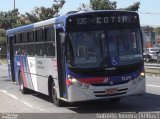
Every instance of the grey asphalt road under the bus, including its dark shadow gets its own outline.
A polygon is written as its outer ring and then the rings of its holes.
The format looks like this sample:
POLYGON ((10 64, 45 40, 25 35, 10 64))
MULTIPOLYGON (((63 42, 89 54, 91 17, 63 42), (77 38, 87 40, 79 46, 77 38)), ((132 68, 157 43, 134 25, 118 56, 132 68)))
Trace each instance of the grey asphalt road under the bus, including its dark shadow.
POLYGON ((146 88, 147 92, 143 96, 125 97, 119 104, 96 101, 56 107, 46 95, 35 92, 21 94, 19 87, 8 80, 6 65, 0 65, 0 113, 31 113, 41 118, 49 116, 56 119, 74 119, 77 113, 81 114, 76 117, 79 119, 83 116, 84 119, 94 119, 99 113, 160 113, 160 77, 146 76, 146 88))

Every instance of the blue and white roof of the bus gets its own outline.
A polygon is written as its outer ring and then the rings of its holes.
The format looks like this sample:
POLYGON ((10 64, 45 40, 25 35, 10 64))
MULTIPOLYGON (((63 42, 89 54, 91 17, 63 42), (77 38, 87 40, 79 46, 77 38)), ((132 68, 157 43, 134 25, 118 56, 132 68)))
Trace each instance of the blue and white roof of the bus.
POLYGON ((48 20, 44 20, 41 22, 37 22, 37 23, 33 23, 33 24, 29 24, 29 25, 25 25, 25 26, 21 26, 21 27, 17 27, 17 28, 13 28, 10 30, 7 30, 7 35, 13 35, 15 33, 18 33, 20 31, 28 31, 31 29, 36 29, 39 27, 43 27, 43 26, 47 26, 47 25, 51 25, 51 24, 55 24, 55 23, 64 23, 65 24, 65 20, 67 17, 69 16, 74 16, 74 15, 80 15, 80 14, 88 14, 88 13, 135 13, 138 14, 137 12, 131 12, 131 11, 121 11, 121 10, 96 10, 96 11, 85 11, 85 12, 71 12, 71 14, 66 14, 66 15, 62 15, 62 16, 58 16, 55 18, 51 18, 48 20))

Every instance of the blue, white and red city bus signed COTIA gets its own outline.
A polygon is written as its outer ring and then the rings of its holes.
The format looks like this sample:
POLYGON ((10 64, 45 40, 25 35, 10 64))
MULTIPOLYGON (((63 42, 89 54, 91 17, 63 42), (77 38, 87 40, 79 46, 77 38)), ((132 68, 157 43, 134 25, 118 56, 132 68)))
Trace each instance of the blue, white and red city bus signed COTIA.
POLYGON ((7 38, 9 77, 24 94, 40 92, 62 106, 145 93, 136 12, 70 12, 10 29, 7 38))

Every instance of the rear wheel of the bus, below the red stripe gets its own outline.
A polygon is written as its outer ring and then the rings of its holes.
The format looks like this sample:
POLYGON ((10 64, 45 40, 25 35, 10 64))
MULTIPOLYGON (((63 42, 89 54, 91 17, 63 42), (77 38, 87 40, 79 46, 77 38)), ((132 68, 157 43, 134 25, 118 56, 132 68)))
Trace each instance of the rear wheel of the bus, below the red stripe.
POLYGON ((24 81, 23 81, 21 72, 19 74, 19 87, 20 87, 20 91, 22 92, 22 94, 28 93, 28 89, 24 87, 24 81))

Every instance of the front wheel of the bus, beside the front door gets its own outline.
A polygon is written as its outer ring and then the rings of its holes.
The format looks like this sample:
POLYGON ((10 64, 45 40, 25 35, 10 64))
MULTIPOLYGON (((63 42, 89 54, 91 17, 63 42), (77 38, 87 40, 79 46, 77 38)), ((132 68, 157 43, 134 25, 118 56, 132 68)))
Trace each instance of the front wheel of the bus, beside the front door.
POLYGON ((61 107, 63 106, 63 102, 62 100, 57 98, 57 91, 55 89, 55 84, 54 82, 52 82, 52 102, 57 106, 57 107, 61 107))

